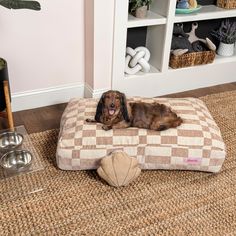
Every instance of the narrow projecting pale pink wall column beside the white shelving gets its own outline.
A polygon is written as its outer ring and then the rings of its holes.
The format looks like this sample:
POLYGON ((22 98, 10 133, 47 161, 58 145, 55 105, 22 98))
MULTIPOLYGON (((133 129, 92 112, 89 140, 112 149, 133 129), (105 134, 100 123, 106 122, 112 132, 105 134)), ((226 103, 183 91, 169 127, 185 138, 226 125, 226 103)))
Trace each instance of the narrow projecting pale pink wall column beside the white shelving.
POLYGON ((93 90, 111 88, 114 1, 85 2, 85 82, 93 90))

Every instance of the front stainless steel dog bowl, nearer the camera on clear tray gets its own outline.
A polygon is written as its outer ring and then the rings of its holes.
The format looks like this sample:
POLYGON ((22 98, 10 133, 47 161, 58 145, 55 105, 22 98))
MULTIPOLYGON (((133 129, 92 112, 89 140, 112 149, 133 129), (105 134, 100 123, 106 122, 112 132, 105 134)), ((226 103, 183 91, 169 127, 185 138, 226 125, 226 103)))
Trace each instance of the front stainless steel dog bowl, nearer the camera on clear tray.
POLYGON ((23 171, 32 163, 32 154, 26 150, 7 152, 0 159, 1 166, 9 171, 23 171))

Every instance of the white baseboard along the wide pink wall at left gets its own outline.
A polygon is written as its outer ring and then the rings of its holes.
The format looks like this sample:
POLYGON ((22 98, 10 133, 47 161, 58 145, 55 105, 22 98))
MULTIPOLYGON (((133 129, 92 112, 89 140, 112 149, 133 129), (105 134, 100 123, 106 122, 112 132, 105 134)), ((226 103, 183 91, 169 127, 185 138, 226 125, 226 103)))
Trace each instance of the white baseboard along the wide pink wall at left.
POLYGON ((12 110, 21 111, 68 102, 73 97, 84 97, 84 84, 75 83, 57 87, 12 93, 12 110))

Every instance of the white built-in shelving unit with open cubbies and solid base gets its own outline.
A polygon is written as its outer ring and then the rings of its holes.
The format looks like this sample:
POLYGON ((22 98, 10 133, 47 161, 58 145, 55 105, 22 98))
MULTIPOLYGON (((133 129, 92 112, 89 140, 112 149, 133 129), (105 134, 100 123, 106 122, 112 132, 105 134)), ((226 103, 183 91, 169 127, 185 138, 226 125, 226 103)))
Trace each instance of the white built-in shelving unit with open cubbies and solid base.
POLYGON ((127 95, 157 96, 236 81, 236 54, 216 56, 214 63, 181 69, 169 68, 174 23, 236 17, 236 9, 202 6, 191 14, 175 14, 176 1, 153 0, 148 17, 128 14, 128 0, 115 3, 112 88, 127 95), (151 52, 149 73, 125 75, 125 50, 128 28, 147 26, 146 47, 151 52), (226 76, 227 72, 227 76, 226 76))

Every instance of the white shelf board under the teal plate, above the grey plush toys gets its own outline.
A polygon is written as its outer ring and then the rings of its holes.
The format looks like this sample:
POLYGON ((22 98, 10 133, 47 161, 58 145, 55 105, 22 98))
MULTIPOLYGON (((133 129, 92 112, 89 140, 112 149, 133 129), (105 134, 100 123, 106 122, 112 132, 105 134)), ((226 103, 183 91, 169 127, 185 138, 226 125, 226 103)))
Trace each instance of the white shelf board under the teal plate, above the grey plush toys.
POLYGON ((199 20, 211 20, 235 17, 236 9, 226 10, 219 8, 215 5, 202 6, 202 8, 194 13, 190 14, 175 14, 174 22, 188 22, 188 21, 199 21, 199 20))

